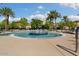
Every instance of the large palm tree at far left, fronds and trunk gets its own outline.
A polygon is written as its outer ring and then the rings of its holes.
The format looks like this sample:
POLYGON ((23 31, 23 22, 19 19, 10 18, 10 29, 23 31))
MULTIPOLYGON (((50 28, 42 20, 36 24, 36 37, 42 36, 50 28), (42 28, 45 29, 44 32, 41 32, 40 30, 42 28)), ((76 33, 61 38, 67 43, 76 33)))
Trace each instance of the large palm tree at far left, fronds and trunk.
POLYGON ((6 20, 5 30, 8 30, 9 17, 14 17, 14 12, 12 11, 12 9, 8 7, 3 7, 3 8, 0 8, 0 15, 5 17, 5 20, 6 20))

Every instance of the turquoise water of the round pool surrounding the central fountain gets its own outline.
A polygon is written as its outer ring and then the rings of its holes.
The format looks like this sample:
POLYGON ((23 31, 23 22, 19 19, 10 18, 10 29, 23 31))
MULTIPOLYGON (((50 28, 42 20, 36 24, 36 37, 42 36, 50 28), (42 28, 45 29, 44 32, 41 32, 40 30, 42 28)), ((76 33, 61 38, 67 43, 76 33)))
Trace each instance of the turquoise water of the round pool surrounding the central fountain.
POLYGON ((46 39, 46 38, 61 37, 62 34, 48 32, 48 34, 45 34, 45 35, 30 35, 29 32, 17 32, 17 33, 13 33, 13 36, 20 37, 20 38, 45 38, 46 39))

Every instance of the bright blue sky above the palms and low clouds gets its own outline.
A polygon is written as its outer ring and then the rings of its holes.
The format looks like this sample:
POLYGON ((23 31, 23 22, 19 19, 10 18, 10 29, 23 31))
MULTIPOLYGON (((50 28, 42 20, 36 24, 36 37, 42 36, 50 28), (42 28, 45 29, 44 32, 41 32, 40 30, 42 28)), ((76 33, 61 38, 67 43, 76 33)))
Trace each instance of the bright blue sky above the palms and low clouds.
MULTIPOLYGON (((34 14, 47 14, 51 10, 57 10, 62 16, 77 15, 79 12, 78 7, 69 7, 60 3, 3 3, 0 4, 1 7, 11 8, 15 12, 16 18, 29 17, 34 14)), ((58 21, 60 20, 58 19, 58 21)))

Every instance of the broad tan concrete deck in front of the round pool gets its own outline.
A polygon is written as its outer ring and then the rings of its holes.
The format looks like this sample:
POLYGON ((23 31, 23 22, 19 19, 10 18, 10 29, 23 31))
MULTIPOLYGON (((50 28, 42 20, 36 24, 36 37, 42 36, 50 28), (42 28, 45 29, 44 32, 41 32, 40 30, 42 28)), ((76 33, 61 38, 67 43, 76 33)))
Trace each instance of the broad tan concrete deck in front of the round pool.
POLYGON ((47 40, 28 40, 10 36, 0 36, 0 55, 2 56, 73 56, 79 55, 75 50, 75 35, 47 40), (66 50, 64 50, 64 48, 66 50), (68 48, 68 49, 67 49, 68 48))

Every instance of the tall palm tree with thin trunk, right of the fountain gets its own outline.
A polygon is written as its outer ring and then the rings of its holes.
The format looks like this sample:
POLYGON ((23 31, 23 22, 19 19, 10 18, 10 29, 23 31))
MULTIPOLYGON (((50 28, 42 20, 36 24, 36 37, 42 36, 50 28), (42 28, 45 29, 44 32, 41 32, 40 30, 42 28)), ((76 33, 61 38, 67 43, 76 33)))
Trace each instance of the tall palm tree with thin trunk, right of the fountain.
POLYGON ((61 17, 61 15, 56 10, 50 11, 50 13, 48 14, 47 19, 50 20, 50 22, 53 21, 53 20, 55 21, 54 22, 55 23, 55 26, 54 26, 55 30, 56 30, 56 19, 60 18, 60 17, 61 17))

